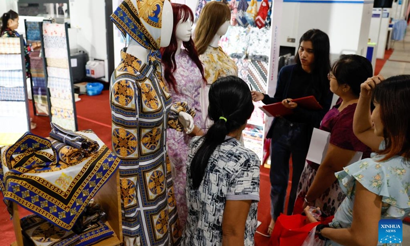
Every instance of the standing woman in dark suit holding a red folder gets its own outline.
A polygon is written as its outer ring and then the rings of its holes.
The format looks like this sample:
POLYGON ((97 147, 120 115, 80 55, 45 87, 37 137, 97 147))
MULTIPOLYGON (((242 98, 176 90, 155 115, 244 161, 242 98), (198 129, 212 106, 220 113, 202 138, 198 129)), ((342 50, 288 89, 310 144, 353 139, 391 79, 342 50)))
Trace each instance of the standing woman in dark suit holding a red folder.
POLYGON ((333 94, 329 90, 327 73, 330 71, 330 44, 326 33, 311 29, 299 40, 295 65, 283 67, 278 75, 274 97, 253 91, 254 101, 264 104, 282 102, 293 114, 275 117, 267 137, 271 142, 271 234, 275 221, 283 212, 289 179, 289 160, 292 155, 292 189, 288 213, 292 214, 296 191, 303 171, 313 128, 318 128, 323 116, 329 111, 333 94), (315 96, 322 110, 298 107, 292 99, 315 96))

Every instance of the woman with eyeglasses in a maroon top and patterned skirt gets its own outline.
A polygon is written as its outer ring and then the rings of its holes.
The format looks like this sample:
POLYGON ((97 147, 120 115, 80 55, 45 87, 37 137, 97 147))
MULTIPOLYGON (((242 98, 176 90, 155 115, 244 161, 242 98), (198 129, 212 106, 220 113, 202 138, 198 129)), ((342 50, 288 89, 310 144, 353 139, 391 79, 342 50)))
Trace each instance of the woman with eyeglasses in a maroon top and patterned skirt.
POLYGON ((345 197, 335 173, 342 171, 358 151, 363 152, 363 158, 370 157, 371 149, 353 133, 353 116, 360 85, 372 75, 372 64, 360 55, 341 55, 333 64, 327 76, 330 90, 339 100, 320 125, 321 130, 330 132, 329 148, 322 163, 306 160, 308 165, 300 177, 294 214, 309 205, 320 208, 327 216, 334 215, 345 197))

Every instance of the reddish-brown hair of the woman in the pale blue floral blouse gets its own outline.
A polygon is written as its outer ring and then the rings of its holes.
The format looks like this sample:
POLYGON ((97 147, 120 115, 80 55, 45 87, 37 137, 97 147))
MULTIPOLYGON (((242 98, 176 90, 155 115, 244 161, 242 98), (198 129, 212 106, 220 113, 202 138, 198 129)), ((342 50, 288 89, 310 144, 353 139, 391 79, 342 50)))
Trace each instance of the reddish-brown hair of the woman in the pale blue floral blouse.
POLYGON ((386 148, 379 154, 383 160, 395 155, 410 161, 410 75, 389 77, 378 84, 373 93, 374 103, 380 104, 386 148))

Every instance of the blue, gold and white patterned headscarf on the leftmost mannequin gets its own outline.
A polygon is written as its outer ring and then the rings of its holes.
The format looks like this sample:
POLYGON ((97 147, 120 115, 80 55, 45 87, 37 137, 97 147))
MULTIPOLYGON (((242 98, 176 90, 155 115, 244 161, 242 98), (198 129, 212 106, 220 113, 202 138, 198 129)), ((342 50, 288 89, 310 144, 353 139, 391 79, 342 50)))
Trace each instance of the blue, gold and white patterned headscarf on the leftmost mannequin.
POLYGON ((124 37, 130 35, 138 44, 151 50, 148 61, 160 61, 162 6, 165 0, 123 1, 111 14, 111 20, 124 37))

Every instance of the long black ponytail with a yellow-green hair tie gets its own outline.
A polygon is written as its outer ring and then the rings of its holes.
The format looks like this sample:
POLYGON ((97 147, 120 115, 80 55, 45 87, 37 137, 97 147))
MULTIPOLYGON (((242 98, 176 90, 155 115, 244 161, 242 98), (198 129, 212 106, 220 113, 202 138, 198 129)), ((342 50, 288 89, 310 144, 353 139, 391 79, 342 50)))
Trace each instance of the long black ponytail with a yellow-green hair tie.
POLYGON ((214 121, 191 162, 193 189, 200 186, 209 158, 225 137, 239 129, 251 117, 254 110, 248 85, 236 76, 217 79, 209 90, 208 116, 214 121), (224 117, 227 119, 220 119, 224 117))

